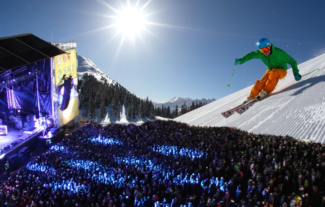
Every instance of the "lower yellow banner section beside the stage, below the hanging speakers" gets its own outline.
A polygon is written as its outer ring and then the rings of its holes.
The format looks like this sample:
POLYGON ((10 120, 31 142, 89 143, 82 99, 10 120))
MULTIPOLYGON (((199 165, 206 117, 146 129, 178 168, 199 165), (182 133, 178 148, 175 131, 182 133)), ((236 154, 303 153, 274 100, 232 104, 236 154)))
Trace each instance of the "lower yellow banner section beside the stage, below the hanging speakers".
POLYGON ((66 108, 66 110, 63 112, 60 110, 60 107, 61 105, 58 107, 57 111, 59 115, 59 127, 62 127, 79 115, 78 96, 70 99, 68 108, 66 108))

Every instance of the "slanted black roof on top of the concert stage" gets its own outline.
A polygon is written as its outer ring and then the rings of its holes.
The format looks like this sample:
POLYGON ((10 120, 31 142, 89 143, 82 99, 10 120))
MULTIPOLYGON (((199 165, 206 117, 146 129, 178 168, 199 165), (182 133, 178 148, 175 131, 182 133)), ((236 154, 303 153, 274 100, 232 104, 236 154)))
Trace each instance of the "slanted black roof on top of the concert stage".
POLYGON ((0 72, 65 53, 31 33, 0 37, 0 72))

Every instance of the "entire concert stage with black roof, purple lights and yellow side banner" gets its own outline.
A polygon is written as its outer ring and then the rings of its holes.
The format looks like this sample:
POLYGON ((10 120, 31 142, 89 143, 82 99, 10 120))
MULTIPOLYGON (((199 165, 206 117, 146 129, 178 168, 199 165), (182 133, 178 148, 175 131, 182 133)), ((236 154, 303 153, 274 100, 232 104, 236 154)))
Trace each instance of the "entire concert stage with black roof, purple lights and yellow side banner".
POLYGON ((30 33, 2 38, 0 175, 7 161, 15 171, 49 148, 78 117, 75 48, 75 41, 49 43, 30 33))

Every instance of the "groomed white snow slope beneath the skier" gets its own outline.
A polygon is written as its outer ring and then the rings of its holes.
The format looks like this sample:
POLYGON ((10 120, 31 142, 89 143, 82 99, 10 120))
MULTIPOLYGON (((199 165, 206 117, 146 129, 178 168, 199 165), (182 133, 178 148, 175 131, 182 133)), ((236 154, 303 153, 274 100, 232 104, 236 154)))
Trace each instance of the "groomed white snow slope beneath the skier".
POLYGON ((235 113, 226 119, 221 113, 241 104, 253 85, 174 121, 193 126, 235 127, 255 134, 289 135, 325 143, 325 54, 299 64, 298 68, 301 75, 319 70, 295 81, 292 69, 288 69, 287 76, 279 80, 270 95, 241 115, 235 113))

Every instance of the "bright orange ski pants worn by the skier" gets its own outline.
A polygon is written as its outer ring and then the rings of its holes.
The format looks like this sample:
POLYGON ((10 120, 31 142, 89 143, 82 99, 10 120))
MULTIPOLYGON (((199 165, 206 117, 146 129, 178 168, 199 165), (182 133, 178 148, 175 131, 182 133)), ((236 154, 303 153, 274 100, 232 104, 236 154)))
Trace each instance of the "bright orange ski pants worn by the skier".
POLYGON ((262 90, 268 94, 272 92, 277 86, 280 79, 287 75, 287 71, 282 68, 274 68, 273 70, 267 69, 261 80, 257 80, 251 90, 250 97, 256 98, 262 90))

